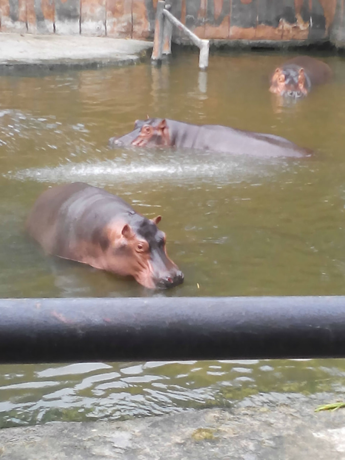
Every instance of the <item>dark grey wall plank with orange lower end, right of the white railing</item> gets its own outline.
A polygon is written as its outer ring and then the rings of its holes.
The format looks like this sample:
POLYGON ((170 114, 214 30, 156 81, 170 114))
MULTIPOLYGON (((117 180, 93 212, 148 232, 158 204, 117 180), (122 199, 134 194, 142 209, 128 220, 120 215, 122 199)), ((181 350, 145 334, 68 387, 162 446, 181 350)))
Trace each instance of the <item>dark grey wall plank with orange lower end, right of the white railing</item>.
POLYGON ((229 38, 254 40, 258 0, 232 0, 229 38))

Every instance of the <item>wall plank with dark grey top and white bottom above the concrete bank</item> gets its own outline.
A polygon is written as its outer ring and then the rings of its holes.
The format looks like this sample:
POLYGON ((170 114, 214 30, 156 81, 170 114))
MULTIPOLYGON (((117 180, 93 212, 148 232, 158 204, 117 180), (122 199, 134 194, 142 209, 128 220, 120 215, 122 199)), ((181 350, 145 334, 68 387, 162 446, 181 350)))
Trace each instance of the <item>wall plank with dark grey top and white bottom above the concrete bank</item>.
POLYGON ((60 35, 80 33, 80 0, 55 0, 55 32, 60 35))

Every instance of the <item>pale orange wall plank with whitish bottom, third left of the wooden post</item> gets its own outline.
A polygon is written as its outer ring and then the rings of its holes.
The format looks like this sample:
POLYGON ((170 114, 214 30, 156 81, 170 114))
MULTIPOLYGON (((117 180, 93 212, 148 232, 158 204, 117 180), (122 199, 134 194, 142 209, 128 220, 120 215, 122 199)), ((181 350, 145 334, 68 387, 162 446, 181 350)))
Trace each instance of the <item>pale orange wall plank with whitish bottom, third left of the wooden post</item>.
POLYGON ((105 35, 106 0, 81 0, 80 31, 82 35, 105 35))

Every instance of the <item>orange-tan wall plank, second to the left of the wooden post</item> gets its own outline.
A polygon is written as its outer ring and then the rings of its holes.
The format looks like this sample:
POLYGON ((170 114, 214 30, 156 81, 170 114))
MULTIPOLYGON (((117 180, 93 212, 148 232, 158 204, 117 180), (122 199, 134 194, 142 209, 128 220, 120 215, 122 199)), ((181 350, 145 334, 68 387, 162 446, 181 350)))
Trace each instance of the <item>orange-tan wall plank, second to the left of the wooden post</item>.
POLYGON ((115 38, 132 37, 132 0, 106 0, 106 34, 115 38))

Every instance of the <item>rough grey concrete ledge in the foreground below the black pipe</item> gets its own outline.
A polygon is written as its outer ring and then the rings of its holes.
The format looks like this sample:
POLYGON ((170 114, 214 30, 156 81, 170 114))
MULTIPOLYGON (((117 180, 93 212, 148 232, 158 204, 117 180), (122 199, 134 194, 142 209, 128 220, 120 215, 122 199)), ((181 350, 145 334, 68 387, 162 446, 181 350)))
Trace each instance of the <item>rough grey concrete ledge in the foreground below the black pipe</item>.
POLYGON ((2 460, 343 460, 345 410, 315 412, 340 395, 269 393, 230 408, 126 421, 51 422, 0 431, 2 460))

